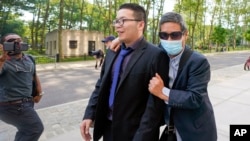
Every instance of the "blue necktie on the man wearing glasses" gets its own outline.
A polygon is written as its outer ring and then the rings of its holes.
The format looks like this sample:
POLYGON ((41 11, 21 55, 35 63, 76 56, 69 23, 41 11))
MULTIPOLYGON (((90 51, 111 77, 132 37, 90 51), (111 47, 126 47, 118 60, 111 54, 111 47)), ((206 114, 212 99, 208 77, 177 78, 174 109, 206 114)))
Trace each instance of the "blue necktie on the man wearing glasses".
POLYGON ((121 66, 122 66, 123 60, 132 51, 133 51, 132 48, 122 48, 119 55, 118 55, 118 58, 116 60, 115 66, 114 66, 114 74, 113 74, 113 80, 112 80, 110 96, 109 96, 109 107, 112 107, 112 105, 113 105, 116 87, 117 87, 117 84, 119 82, 119 75, 121 72, 121 66))

